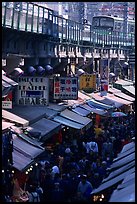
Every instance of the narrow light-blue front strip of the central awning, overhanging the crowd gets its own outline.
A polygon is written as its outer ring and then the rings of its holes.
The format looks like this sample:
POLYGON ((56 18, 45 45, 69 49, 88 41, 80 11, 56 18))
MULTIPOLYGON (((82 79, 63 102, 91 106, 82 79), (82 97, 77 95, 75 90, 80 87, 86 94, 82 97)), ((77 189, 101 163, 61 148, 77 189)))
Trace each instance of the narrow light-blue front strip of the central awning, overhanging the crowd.
POLYGON ((74 129, 80 130, 80 129, 84 128, 84 125, 77 123, 77 122, 74 122, 72 120, 69 120, 67 118, 64 118, 62 116, 56 116, 53 118, 53 120, 61 123, 62 125, 65 125, 65 126, 68 126, 68 127, 74 128, 74 129))

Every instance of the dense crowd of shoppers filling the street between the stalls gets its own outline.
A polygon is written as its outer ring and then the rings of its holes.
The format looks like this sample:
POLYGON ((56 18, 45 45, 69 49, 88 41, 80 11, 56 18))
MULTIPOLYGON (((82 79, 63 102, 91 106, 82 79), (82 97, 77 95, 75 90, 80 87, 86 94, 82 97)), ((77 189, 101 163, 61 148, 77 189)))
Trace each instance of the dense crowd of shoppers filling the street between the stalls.
POLYGON ((135 136, 135 112, 94 121, 74 140, 63 137, 27 179, 27 202, 89 202, 90 193, 107 177, 107 168, 135 136))

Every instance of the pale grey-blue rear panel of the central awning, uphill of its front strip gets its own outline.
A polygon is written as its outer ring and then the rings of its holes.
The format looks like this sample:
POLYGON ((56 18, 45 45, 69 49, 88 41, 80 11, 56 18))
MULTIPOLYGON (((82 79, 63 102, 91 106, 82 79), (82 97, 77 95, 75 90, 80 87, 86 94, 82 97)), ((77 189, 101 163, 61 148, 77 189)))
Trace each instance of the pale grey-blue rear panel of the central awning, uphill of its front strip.
POLYGON ((60 115, 74 122, 80 123, 84 125, 86 128, 89 128, 92 125, 91 119, 78 115, 77 113, 74 113, 73 111, 70 111, 68 109, 62 111, 60 115))

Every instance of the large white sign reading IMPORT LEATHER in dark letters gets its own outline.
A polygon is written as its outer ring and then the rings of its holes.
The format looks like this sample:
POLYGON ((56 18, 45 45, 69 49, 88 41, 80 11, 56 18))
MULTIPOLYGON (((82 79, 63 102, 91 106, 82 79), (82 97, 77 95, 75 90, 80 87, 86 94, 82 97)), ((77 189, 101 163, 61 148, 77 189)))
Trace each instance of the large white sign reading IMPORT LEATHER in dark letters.
POLYGON ((49 78, 19 77, 17 104, 19 105, 48 105, 49 78))

